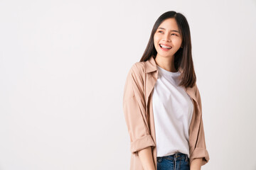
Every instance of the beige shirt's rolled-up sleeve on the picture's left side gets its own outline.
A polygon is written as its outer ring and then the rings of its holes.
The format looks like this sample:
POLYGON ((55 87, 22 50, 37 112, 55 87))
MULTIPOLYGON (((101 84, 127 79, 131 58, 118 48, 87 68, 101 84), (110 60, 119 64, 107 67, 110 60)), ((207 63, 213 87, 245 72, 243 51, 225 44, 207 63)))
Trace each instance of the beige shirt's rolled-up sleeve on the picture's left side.
POLYGON ((143 72, 138 63, 133 64, 124 85, 123 111, 132 153, 137 153, 146 147, 155 146, 146 121, 143 72))

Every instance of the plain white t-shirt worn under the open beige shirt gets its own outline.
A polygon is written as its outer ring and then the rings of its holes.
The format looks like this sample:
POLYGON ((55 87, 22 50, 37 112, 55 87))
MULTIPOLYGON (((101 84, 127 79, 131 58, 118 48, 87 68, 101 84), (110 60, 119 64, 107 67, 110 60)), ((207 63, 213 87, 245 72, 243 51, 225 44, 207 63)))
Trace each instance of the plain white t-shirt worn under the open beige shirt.
POLYGON ((152 94, 156 130, 156 155, 176 152, 189 155, 188 128, 193 114, 193 99, 178 86, 181 72, 169 72, 156 65, 159 78, 152 94))

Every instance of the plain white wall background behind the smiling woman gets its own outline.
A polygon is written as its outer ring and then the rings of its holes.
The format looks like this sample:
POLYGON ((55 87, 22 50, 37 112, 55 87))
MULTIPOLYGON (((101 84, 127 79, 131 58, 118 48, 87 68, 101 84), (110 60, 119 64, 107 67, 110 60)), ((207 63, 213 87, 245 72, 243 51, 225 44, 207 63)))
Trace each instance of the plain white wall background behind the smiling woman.
POLYGON ((129 169, 124 81, 186 16, 206 170, 256 169, 256 1, 0 1, 0 170, 129 169))

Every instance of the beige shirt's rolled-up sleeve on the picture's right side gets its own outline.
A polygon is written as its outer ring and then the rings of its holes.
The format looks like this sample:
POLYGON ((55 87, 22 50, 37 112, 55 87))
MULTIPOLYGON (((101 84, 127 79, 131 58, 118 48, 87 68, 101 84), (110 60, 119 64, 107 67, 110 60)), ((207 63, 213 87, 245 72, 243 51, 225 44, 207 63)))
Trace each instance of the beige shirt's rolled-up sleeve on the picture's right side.
MULTIPOLYGON (((200 107, 201 113, 202 113, 202 103, 201 103, 201 96, 198 90, 198 87, 196 85, 196 98, 198 99, 198 105, 200 107)), ((205 139, 205 133, 203 129, 203 117, 201 114, 201 122, 200 122, 200 127, 199 127, 199 132, 198 132, 198 142, 196 143, 196 148, 194 149, 193 153, 191 154, 191 162, 193 159, 196 158, 202 158, 203 163, 202 166, 208 163, 210 157, 208 154, 208 151, 206 149, 206 139, 205 139)))

